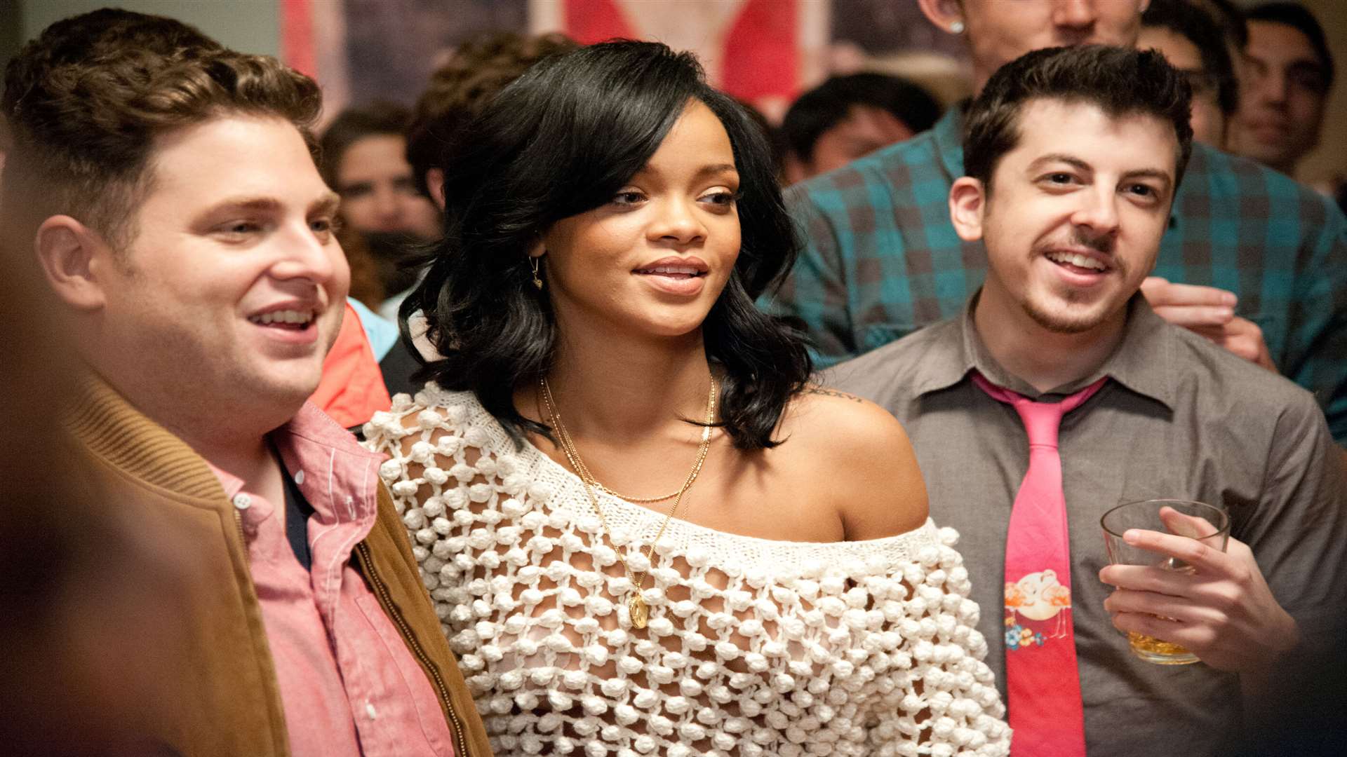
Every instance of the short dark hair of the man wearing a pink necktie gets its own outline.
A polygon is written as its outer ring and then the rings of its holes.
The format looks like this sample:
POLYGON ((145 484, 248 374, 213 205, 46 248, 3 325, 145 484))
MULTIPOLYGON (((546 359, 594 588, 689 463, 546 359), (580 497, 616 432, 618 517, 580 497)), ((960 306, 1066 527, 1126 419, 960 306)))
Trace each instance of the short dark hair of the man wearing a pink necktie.
POLYGON ((963 171, 991 190, 1001 158, 1020 141, 1020 114, 1036 100, 1095 105, 1110 117, 1154 116, 1179 140, 1175 190, 1192 154, 1192 89, 1154 50, 1082 44, 1026 53, 991 74, 968 106, 963 171))

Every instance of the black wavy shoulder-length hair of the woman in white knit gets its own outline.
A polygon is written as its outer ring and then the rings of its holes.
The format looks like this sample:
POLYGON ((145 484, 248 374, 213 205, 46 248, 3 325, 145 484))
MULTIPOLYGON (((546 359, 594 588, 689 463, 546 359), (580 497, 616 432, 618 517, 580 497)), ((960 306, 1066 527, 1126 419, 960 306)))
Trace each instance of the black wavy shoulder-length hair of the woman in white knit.
POLYGON ((550 368, 558 337, 527 252, 556 221, 609 202, 692 100, 719 117, 741 180, 740 256, 702 325, 706 354, 723 370, 721 424, 741 450, 780 443, 772 434, 811 362, 799 331, 754 306, 797 249, 770 147, 742 106, 706 84, 692 55, 653 42, 606 42, 541 61, 450 147, 445 238, 401 307, 403 338, 420 310, 445 356, 423 378, 475 392, 516 443, 524 431, 551 435, 513 404, 515 388, 550 368))

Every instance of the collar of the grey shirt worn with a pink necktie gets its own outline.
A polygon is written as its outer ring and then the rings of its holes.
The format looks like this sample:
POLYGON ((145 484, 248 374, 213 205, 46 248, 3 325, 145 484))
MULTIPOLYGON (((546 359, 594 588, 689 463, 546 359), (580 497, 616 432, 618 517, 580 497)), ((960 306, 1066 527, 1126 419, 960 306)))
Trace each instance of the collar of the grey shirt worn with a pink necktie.
POLYGON ((948 333, 943 335, 944 338, 935 339, 933 349, 924 356, 923 370, 917 377, 917 395, 947 389, 963 381, 971 370, 978 370, 998 387, 1030 399, 1068 395, 1107 376, 1131 392, 1173 409, 1175 384, 1179 378, 1172 358, 1175 335, 1164 319, 1150 310, 1141 292, 1127 300, 1127 322, 1123 326, 1122 341, 1109 360, 1079 381, 1047 392, 1039 392, 991 357, 973 323, 973 311, 981 294, 978 290, 968 298, 956 319, 935 326, 947 329, 948 333))

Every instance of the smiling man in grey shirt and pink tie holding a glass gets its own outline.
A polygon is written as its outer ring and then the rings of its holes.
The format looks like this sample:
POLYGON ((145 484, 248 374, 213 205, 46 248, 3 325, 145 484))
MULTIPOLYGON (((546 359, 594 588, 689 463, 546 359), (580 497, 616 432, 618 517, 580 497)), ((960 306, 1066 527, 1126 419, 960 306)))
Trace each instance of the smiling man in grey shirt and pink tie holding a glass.
POLYGON ((1152 51, 1040 50, 994 74, 950 191, 955 230, 983 242, 986 283, 960 317, 827 377, 907 427, 932 517, 962 533, 1002 690, 1006 532, 1029 449, 1016 409, 973 376, 1037 401, 1105 380, 1059 435, 1091 757, 1220 754, 1242 684, 1323 649, 1347 606, 1347 475, 1313 397, 1167 325, 1138 294, 1189 154, 1188 102, 1152 51), (1100 515, 1145 498, 1224 505, 1228 550, 1193 556, 1146 532, 1196 572, 1106 567, 1100 515), (1145 663, 1122 630, 1204 664, 1145 663))

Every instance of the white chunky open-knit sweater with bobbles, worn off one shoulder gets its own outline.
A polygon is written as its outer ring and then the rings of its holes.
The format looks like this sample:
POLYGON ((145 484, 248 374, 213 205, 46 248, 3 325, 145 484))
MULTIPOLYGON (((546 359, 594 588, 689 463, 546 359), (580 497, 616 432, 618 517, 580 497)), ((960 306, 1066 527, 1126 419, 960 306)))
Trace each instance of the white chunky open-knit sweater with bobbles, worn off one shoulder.
POLYGON ((581 480, 467 392, 399 395, 365 434, 498 756, 1009 752, 951 529, 795 543, 674 520, 637 630, 614 547, 645 570, 661 515, 602 496, 603 540, 581 480))

